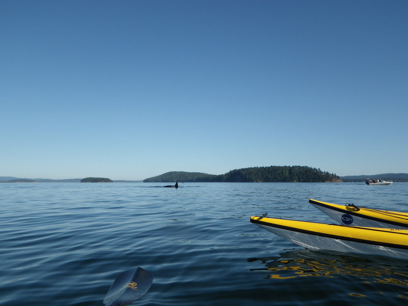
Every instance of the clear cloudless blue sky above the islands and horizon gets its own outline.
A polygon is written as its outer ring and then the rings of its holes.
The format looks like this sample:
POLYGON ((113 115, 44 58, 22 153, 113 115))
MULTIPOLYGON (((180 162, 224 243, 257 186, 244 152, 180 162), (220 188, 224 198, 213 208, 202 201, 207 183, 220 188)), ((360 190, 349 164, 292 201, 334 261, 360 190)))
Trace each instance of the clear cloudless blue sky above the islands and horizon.
POLYGON ((0 1, 0 176, 408 172, 407 1, 0 1))

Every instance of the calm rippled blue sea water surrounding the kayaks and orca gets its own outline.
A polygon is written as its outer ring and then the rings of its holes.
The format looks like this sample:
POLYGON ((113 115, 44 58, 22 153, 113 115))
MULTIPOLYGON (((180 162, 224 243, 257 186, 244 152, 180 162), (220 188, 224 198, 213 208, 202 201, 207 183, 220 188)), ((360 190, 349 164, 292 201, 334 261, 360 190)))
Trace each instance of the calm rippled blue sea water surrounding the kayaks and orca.
POLYGON ((304 250, 251 215, 333 223, 309 198, 408 211, 408 183, 0 184, 0 305, 103 305, 116 276, 154 275, 134 305, 408 304, 408 261, 304 250))

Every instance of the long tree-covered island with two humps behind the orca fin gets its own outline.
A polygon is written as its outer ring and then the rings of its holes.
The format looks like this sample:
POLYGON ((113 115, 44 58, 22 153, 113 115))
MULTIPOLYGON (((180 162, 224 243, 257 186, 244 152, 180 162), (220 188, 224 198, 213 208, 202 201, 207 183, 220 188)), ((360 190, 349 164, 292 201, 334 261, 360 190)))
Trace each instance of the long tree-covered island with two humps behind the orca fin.
POLYGON ((340 176, 308 166, 269 166, 235 169, 215 175, 200 172, 173 171, 143 180, 163 182, 231 182, 231 183, 325 183, 342 182, 340 176))

